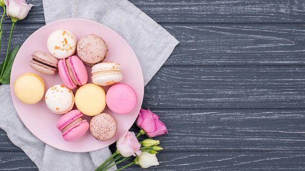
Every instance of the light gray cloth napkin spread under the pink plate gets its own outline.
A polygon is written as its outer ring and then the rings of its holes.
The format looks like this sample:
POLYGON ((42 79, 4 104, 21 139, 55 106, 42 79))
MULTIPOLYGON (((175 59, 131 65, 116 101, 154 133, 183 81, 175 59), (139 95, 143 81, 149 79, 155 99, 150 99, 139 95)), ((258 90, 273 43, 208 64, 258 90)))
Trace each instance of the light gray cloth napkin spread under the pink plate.
MULTIPOLYGON (((84 18, 102 23, 120 34, 140 62, 145 85, 179 43, 128 0, 43 0, 43 9, 46 24, 59 19, 84 18)), ((35 162, 39 171, 93 171, 111 155, 108 147, 72 153, 40 141, 19 120, 9 85, 0 85, 0 102, 0 127, 35 162)))

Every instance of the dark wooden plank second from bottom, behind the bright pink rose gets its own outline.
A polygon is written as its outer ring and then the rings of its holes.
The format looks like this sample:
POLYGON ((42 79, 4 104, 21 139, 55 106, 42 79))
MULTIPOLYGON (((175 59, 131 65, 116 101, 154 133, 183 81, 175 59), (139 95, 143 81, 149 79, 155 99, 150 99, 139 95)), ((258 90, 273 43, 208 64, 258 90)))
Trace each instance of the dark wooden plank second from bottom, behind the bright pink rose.
MULTIPOLYGON (((166 153, 305 152, 305 109, 151 110, 168 128, 154 137, 166 153)), ((139 128, 134 124, 131 131, 139 128)), ((20 149, 0 134, 0 152, 12 151, 20 149)))

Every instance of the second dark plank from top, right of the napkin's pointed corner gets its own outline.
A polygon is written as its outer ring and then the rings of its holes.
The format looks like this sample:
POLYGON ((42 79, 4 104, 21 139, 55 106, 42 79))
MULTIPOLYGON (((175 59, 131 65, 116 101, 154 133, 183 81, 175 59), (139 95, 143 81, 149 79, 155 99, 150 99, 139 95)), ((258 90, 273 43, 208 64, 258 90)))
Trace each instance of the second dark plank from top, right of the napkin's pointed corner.
POLYGON ((304 24, 162 24, 179 41, 166 66, 304 65, 304 24))

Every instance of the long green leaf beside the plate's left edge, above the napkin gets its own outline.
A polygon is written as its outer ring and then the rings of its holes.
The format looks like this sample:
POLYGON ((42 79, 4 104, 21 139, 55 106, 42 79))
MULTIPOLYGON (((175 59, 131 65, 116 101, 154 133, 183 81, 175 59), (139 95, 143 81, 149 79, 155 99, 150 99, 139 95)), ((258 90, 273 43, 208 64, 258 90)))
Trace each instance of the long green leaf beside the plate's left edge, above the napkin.
POLYGON ((5 67, 5 68, 3 70, 3 75, 0 78, 1 84, 10 84, 10 77, 11 77, 11 70, 12 70, 13 62, 15 60, 15 57, 16 57, 19 49, 20 49, 20 45, 18 44, 16 46, 16 48, 8 55, 8 57, 5 58, 5 60, 8 60, 6 66, 2 66, 4 61, 2 62, 1 66, 0 66, 0 70, 2 70, 3 67, 5 67))

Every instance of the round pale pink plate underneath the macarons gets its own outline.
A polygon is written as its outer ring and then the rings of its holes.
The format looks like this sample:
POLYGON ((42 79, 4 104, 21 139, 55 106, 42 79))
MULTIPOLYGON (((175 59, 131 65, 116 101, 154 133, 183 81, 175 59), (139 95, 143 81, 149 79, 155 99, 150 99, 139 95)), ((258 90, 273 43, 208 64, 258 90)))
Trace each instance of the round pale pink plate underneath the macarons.
MULTIPOLYGON (((91 67, 87 66, 89 82, 91 82, 91 67)), ((109 87, 106 87, 107 90, 109 87)), ((142 105, 144 96, 143 75, 140 64, 128 43, 110 28, 97 22, 85 19, 64 19, 45 25, 33 33, 21 46, 13 64, 11 73, 11 94, 19 118, 24 125, 40 140, 57 149, 69 152, 91 152, 104 148, 115 142, 126 130, 133 125, 142 105), (131 85, 137 94, 137 104, 132 112, 126 115, 118 115, 108 108, 104 111, 113 114, 117 121, 118 130, 116 135, 107 141, 95 139, 88 131, 86 135, 74 142, 66 142, 56 128, 57 120, 61 115, 52 113, 46 106, 44 99, 36 104, 21 103, 14 90, 16 79, 26 73, 34 72, 41 76, 45 82, 46 90, 56 84, 63 84, 58 73, 55 75, 44 75, 30 68, 29 62, 34 51, 48 51, 46 40, 48 35, 57 29, 67 29, 75 34, 77 40, 87 34, 96 34, 102 37, 109 48, 108 56, 104 61, 113 61, 121 64, 123 80, 122 83, 131 85)), ((75 90, 74 90, 75 92, 75 90)), ((90 120, 90 117, 86 117, 90 120)))

